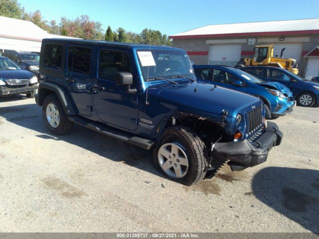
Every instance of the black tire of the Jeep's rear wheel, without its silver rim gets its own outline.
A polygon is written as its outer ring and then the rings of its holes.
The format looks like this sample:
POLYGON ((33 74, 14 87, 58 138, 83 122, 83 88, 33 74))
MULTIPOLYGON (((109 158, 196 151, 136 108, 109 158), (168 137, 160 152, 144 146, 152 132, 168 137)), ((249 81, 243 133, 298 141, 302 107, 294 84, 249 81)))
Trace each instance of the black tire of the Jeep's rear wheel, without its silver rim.
POLYGON ((58 97, 55 94, 50 94, 44 99, 43 106, 42 106, 42 116, 43 116, 43 120, 45 122, 45 125, 48 127, 50 132, 52 132, 53 134, 57 134, 57 135, 67 134, 73 126, 73 122, 67 118, 67 115, 65 114, 65 111, 64 111, 58 97), (50 103, 56 106, 56 108, 59 111, 59 115, 60 115, 60 122, 59 122, 58 126, 55 128, 49 124, 49 122, 46 118, 46 107, 50 103))

